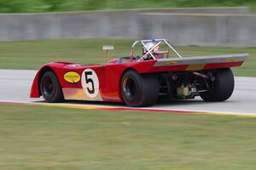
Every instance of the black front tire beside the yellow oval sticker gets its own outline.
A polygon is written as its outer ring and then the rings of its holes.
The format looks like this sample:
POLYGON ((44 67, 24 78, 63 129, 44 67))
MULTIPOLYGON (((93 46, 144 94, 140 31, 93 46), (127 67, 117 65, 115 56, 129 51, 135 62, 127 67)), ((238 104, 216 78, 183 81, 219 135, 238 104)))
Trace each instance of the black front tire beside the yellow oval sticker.
POLYGON ((63 101, 60 82, 53 71, 47 71, 40 79, 40 93, 46 102, 57 103, 63 101))

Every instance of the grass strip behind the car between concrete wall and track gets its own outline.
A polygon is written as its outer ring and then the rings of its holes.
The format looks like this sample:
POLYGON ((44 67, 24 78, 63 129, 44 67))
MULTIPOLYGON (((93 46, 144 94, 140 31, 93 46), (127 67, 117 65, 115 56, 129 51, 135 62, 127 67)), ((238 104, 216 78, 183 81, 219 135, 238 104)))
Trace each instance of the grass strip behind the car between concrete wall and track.
MULTIPOLYGON (((102 63, 106 61, 103 44, 113 44, 111 58, 129 56, 133 39, 71 39, 26 42, 0 42, 1 69, 38 69, 53 61, 102 63)), ((234 68, 236 76, 256 77, 256 48, 177 47, 184 56, 249 53, 244 65, 234 68)), ((139 50, 141 52, 141 50, 139 50)))

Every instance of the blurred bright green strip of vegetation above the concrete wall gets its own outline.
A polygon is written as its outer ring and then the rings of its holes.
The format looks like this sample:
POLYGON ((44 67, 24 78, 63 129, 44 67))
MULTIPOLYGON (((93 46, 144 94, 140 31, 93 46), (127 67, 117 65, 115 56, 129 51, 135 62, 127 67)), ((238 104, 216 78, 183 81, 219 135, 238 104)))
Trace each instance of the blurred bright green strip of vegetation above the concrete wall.
POLYGON ((254 0, 1 0, 0 13, 40 13, 119 8, 256 6, 254 0))

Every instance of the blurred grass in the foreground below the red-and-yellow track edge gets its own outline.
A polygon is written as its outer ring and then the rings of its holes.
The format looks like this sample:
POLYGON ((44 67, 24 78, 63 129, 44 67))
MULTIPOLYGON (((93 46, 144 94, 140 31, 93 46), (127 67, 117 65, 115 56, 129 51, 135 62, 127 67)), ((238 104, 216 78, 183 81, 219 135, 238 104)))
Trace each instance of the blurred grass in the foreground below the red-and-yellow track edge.
POLYGON ((255 118, 0 105, 0 169, 255 169, 255 118))

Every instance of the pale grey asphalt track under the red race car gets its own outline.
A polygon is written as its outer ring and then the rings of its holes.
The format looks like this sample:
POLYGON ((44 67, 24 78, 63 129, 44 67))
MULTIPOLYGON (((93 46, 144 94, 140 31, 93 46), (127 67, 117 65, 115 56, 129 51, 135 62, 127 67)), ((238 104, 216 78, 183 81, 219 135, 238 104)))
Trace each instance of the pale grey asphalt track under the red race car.
MULTIPOLYGON (((44 104, 44 99, 30 99, 30 88, 36 71, 1 70, 0 102, 44 104)), ((256 77, 235 77, 233 95, 225 102, 207 103, 200 97, 176 102, 158 102, 148 107, 161 111, 199 111, 218 114, 256 116, 256 77)), ((48 105, 48 104, 47 104, 48 105)), ((68 101, 57 105, 124 108, 124 104, 109 102, 68 101)), ((138 108, 142 109, 142 108, 138 108)))

